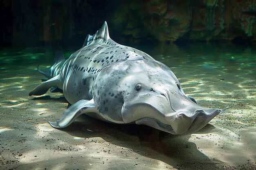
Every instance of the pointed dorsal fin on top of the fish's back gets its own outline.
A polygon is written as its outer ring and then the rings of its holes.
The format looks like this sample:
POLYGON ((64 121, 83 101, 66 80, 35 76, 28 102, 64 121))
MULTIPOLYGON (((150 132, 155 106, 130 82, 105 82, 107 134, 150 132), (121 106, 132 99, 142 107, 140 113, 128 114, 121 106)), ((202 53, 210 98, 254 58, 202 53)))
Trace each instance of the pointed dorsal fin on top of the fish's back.
POLYGON ((94 35, 88 34, 86 36, 85 41, 83 43, 83 47, 88 46, 90 44, 94 44, 99 39, 102 40, 102 42, 108 42, 108 39, 110 39, 109 33, 108 33, 108 24, 106 21, 101 26, 101 29, 96 31, 96 33, 94 35))

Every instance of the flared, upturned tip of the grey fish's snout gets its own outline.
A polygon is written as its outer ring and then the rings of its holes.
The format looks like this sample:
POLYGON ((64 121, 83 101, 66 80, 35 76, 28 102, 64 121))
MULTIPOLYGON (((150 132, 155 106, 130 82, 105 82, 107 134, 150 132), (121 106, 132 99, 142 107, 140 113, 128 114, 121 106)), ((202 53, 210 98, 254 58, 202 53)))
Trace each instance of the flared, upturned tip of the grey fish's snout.
POLYGON ((191 134, 206 126, 221 111, 218 108, 197 109, 190 114, 180 111, 176 115, 166 118, 177 135, 185 132, 191 134))

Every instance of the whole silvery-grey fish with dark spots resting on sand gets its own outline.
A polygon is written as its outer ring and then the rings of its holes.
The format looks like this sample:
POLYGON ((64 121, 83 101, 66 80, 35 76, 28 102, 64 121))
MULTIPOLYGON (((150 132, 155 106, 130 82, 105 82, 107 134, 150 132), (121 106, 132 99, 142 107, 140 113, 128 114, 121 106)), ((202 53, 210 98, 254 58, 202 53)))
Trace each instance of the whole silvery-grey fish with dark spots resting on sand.
POLYGON ((67 60, 57 53, 48 80, 29 95, 43 95, 49 88, 63 90, 72 106, 56 121, 69 126, 81 114, 115 124, 144 124, 177 135, 203 128, 223 110, 199 106, 184 94, 166 65, 150 55, 116 43, 107 23, 87 35, 83 47, 67 60))

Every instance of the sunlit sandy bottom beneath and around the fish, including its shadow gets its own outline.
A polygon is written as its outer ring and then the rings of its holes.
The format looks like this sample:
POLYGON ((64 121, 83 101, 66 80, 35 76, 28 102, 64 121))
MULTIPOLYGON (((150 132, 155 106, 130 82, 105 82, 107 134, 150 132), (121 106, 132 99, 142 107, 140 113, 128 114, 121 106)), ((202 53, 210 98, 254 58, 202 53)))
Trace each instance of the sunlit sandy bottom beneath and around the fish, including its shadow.
POLYGON ((185 93, 200 105, 232 107, 192 135, 87 116, 54 129, 45 119, 58 119, 68 107, 63 94, 29 97, 43 78, 35 66, 2 67, 0 169, 256 169, 255 75, 232 67, 199 73, 198 66, 184 66, 173 71, 185 93))

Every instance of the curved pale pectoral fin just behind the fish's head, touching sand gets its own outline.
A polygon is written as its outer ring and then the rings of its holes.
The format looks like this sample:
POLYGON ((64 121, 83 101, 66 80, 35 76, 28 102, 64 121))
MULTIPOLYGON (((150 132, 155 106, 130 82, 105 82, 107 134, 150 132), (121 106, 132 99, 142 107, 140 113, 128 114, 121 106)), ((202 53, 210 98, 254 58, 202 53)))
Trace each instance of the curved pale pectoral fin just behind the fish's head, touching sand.
POLYGON ((97 113, 97 108, 94 106, 94 100, 79 100, 72 106, 70 106, 67 110, 65 110, 61 116, 61 118, 56 121, 48 121, 49 124, 54 128, 65 128, 72 124, 72 122, 82 115, 83 113, 97 113))

